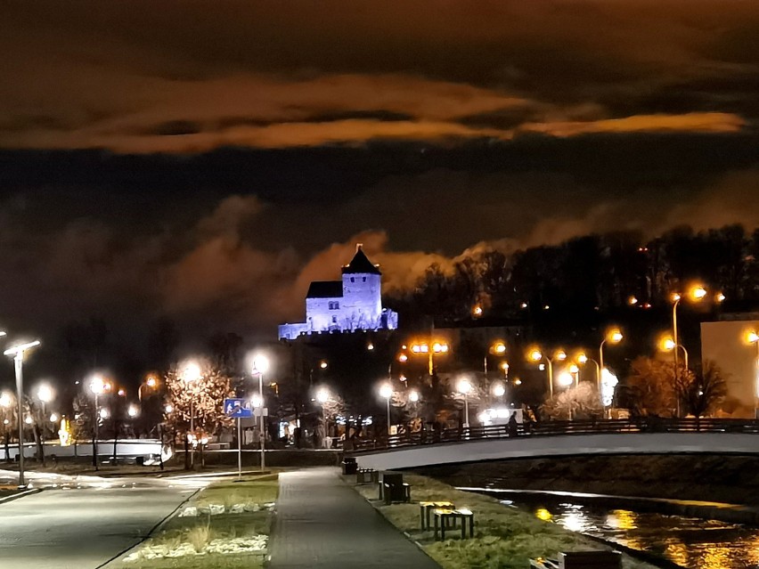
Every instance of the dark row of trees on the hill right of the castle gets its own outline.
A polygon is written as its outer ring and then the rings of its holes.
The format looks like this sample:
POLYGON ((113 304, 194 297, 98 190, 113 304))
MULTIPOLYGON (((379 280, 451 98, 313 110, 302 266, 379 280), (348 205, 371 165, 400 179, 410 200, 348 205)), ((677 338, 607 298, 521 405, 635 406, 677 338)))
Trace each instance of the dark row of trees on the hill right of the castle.
POLYGON ((487 249, 452 272, 431 265, 416 289, 390 302, 404 324, 464 321, 475 306, 483 317, 523 319, 552 313, 614 313, 631 305, 669 305, 673 292, 698 281, 722 292, 731 306, 759 303, 759 229, 740 225, 695 232, 677 227, 653 240, 640 233, 588 235, 512 254, 487 249), (546 310, 545 306, 549 306, 546 310))

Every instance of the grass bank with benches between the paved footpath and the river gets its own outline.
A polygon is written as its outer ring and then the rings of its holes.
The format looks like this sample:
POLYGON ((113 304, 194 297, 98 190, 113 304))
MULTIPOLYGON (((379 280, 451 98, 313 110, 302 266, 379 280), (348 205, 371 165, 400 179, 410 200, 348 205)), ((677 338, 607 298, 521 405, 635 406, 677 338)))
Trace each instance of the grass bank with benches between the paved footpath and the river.
MULTIPOLYGON (((544 522, 529 512, 510 508, 489 496, 461 492, 426 476, 405 475, 412 485, 412 500, 452 501, 457 508, 469 508, 475 514, 474 539, 461 540, 460 531, 446 532, 446 538, 434 541, 432 532, 421 532, 419 504, 385 506, 377 499, 375 484, 356 485, 355 490, 371 500, 383 516, 400 530, 411 535, 444 569, 524 569, 531 557, 556 558, 559 551, 604 549, 599 543, 557 524, 544 522)), ((625 569, 654 569, 653 565, 624 557, 625 569)))

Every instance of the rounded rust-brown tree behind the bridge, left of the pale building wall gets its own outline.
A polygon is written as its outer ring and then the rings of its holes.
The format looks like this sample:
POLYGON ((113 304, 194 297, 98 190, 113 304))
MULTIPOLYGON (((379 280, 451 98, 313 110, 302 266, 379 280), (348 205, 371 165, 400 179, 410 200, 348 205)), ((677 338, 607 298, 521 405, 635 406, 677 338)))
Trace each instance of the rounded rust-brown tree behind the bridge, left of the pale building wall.
POLYGON ((674 363, 641 356, 633 360, 625 391, 636 415, 675 416, 678 400, 683 401, 694 381, 693 372, 680 365, 677 382, 674 363))

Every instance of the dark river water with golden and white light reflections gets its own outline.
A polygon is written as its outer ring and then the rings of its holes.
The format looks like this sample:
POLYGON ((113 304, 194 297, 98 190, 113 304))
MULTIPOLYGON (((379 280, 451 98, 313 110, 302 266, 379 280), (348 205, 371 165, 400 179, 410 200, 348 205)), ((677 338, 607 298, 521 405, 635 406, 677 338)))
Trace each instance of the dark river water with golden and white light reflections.
POLYGON ((569 502, 539 508, 520 500, 514 504, 572 532, 666 557, 689 569, 759 568, 759 528, 569 502))

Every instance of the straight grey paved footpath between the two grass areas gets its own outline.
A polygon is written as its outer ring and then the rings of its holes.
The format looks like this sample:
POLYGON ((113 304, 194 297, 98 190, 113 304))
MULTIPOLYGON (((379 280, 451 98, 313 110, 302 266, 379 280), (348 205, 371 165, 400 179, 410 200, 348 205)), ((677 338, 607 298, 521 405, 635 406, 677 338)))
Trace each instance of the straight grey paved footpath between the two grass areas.
POLYGON ((271 569, 440 569, 345 484, 337 468, 280 475, 271 569))

